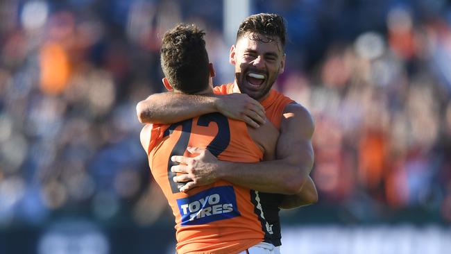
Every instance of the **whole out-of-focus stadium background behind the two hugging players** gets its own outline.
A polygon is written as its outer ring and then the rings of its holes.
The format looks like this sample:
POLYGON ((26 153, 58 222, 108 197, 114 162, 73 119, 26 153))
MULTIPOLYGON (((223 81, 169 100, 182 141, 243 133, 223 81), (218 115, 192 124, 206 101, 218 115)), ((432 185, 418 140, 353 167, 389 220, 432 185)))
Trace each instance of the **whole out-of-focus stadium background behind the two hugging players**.
POLYGON ((449 253, 445 0, 0 1, 0 253, 174 253, 135 105, 168 28, 205 29, 219 85, 258 12, 287 19, 276 87, 316 121, 320 199, 281 212, 282 253, 449 253))

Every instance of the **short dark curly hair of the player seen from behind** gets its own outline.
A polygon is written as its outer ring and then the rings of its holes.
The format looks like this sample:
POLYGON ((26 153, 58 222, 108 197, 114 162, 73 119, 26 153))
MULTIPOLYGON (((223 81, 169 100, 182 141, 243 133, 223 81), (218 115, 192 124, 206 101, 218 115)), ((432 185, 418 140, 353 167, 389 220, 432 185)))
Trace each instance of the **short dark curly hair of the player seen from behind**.
POLYGON ((204 35, 194 24, 177 24, 164 33, 161 67, 172 87, 180 92, 195 94, 209 85, 210 62, 204 35))

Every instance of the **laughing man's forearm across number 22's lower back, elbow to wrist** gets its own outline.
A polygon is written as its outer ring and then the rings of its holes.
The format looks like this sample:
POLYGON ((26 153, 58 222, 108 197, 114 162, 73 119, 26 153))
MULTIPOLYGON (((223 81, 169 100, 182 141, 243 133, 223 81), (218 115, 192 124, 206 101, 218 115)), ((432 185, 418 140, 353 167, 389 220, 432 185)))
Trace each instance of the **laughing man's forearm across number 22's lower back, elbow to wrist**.
POLYGON ((309 178, 307 168, 287 160, 259 163, 224 162, 218 165, 217 178, 259 192, 297 194, 309 178))

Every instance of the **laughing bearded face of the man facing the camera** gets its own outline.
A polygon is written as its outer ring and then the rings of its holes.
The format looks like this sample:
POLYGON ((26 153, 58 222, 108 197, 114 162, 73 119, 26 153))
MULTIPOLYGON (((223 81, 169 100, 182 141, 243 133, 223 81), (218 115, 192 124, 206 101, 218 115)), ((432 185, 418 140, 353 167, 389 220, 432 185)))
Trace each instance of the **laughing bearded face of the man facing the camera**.
POLYGON ((284 71, 285 55, 280 41, 258 33, 247 33, 230 49, 239 92, 262 101, 284 71))

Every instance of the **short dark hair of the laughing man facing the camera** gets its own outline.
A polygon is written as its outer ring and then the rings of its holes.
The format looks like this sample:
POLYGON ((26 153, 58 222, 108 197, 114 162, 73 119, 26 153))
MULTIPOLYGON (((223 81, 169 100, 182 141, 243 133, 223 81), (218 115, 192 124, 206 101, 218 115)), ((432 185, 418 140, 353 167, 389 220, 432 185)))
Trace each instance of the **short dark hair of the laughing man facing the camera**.
POLYGON ((284 18, 273 13, 259 13, 250 15, 241 22, 237 32, 237 40, 244 37, 248 33, 259 33, 264 35, 263 38, 256 36, 251 40, 259 40, 260 42, 272 42, 274 37, 278 37, 282 48, 285 47, 285 37, 287 36, 287 28, 285 27, 284 18))

